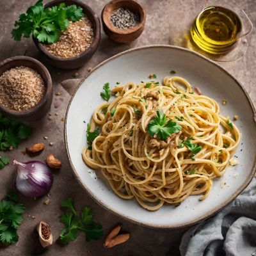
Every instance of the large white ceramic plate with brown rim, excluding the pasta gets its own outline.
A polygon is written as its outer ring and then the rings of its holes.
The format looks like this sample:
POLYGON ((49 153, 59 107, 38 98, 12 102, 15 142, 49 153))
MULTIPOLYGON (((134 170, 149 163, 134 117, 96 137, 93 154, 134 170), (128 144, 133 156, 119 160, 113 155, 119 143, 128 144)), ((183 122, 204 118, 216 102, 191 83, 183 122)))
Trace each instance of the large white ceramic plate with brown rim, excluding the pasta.
POLYGON ((200 54, 167 45, 152 45, 122 52, 104 61, 84 79, 70 100, 65 122, 65 143, 72 169, 90 195, 100 205, 116 214, 150 227, 179 228, 203 220, 234 199, 248 185, 255 173, 256 153, 255 109, 243 86, 227 71, 200 54), (202 93, 217 100, 221 114, 238 115, 236 121, 242 133, 236 151, 239 164, 228 167, 220 179, 213 182, 210 195, 202 202, 199 196, 189 196, 179 207, 164 205, 155 212, 143 209, 135 200, 123 200, 113 193, 108 183, 83 163, 81 152, 86 146, 86 122, 102 102, 100 92, 104 83, 111 88, 116 82, 147 81, 148 74, 158 79, 177 70, 177 76, 188 79, 202 93), (221 104, 227 100, 227 105, 221 104), (89 171, 89 172, 88 172, 89 171), (226 182, 222 188, 221 184, 226 182))

